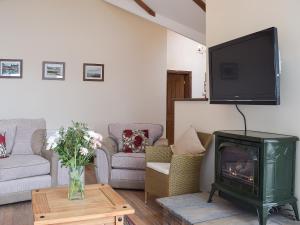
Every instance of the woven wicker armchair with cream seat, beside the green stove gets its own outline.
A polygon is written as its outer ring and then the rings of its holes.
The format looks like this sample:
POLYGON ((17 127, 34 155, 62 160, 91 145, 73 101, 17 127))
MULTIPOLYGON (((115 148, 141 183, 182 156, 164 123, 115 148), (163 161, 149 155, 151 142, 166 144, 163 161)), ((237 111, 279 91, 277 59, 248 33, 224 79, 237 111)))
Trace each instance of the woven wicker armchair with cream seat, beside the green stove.
MULTIPOLYGON (((197 134, 204 148, 208 149, 212 134, 197 134)), ((167 197, 199 192, 200 166, 204 155, 175 155, 167 146, 147 147, 145 203, 149 194, 167 197), (151 163, 160 164, 161 169, 150 168, 151 163)))

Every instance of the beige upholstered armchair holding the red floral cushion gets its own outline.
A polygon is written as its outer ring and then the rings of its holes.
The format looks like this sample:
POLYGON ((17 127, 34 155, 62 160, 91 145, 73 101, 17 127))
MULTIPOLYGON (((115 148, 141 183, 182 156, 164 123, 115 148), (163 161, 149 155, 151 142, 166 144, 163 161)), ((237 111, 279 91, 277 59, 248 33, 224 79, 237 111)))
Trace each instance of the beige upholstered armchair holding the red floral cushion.
POLYGON ((168 141, 161 138, 163 135, 162 125, 147 123, 109 124, 109 136, 103 140, 101 149, 96 150, 97 182, 110 184, 114 188, 144 189, 145 153, 121 151, 122 134, 127 129, 148 130, 151 145, 168 145, 168 141))

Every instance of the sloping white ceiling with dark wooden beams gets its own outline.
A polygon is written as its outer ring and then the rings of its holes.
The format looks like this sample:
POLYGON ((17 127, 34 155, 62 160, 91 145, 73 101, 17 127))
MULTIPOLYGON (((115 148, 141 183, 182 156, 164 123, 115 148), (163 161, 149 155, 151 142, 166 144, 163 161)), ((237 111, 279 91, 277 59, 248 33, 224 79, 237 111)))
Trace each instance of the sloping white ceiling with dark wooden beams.
POLYGON ((193 0, 144 0, 156 12, 155 17, 134 0, 104 1, 205 44, 205 12, 193 0))

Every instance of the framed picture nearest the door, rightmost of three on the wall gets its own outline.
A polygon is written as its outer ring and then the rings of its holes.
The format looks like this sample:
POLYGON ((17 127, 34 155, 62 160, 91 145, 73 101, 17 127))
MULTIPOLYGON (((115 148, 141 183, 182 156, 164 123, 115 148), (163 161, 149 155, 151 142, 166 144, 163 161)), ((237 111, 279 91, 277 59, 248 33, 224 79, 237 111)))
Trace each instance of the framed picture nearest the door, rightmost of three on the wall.
POLYGON ((104 65, 103 64, 83 64, 83 80, 84 81, 104 81, 104 65))

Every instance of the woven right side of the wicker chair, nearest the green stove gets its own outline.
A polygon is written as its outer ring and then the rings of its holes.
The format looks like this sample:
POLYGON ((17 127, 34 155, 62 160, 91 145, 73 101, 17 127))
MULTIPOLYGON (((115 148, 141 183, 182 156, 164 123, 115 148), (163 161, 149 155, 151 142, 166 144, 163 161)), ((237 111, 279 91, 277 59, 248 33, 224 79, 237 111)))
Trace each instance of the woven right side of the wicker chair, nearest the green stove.
POLYGON ((204 154, 173 155, 169 173, 171 195, 199 192, 200 167, 204 154))

